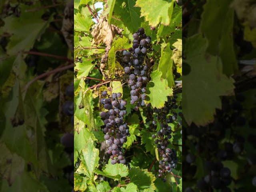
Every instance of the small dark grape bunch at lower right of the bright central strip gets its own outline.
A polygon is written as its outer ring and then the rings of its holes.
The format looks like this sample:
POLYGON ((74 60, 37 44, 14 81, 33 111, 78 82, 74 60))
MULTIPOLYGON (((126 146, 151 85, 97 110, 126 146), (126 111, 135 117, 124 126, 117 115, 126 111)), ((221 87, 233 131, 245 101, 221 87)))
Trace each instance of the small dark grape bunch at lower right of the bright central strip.
POLYGON ((161 129, 152 138, 155 139, 155 144, 157 144, 158 153, 161 160, 159 161, 159 178, 163 178, 166 181, 166 174, 171 172, 173 168, 177 165, 177 153, 174 149, 167 148, 170 144, 169 139, 172 138, 172 129, 167 124, 161 124, 161 129))

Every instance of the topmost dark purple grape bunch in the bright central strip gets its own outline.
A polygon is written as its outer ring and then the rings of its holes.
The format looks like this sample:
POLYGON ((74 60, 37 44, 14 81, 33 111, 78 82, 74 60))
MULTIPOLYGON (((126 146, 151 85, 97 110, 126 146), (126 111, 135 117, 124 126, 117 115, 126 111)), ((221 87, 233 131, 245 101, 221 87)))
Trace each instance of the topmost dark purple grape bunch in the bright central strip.
POLYGON ((134 110, 145 106, 146 84, 148 82, 148 66, 145 64, 146 53, 150 49, 151 37, 145 34, 144 28, 140 28, 133 34, 133 46, 122 52, 124 72, 129 75, 128 86, 131 89, 131 104, 135 104, 134 110))

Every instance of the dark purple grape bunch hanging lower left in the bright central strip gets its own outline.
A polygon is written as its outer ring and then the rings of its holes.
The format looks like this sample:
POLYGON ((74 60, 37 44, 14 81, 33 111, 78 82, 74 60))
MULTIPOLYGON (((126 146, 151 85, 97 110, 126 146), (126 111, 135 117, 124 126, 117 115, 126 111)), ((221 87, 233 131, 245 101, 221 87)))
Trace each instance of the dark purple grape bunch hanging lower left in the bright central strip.
POLYGON ((111 154, 111 164, 125 164, 122 146, 127 141, 127 136, 130 136, 129 127, 124 122, 127 102, 122 100, 121 93, 113 93, 110 97, 106 91, 103 91, 102 97, 100 103, 104 105, 106 112, 102 111, 100 117, 104 119, 104 139, 109 144, 107 153, 111 154))

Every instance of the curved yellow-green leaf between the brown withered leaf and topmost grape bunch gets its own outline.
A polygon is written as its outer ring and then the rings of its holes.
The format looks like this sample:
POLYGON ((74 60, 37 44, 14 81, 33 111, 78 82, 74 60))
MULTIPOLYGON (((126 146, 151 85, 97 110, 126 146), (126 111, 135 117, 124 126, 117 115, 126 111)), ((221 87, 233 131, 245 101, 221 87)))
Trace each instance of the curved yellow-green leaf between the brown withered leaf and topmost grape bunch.
POLYGON ((116 72, 116 52, 121 49, 130 48, 129 40, 126 37, 118 38, 112 43, 111 49, 108 52, 108 70, 111 78, 114 78, 116 72))

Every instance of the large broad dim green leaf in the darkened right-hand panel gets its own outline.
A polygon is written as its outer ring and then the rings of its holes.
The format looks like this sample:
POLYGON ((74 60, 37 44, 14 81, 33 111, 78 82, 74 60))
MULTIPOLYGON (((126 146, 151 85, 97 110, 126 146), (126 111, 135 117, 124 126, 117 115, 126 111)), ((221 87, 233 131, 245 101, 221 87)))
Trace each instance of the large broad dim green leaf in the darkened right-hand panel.
POLYGON ((183 86, 182 113, 188 124, 212 122, 216 108, 221 108, 220 96, 230 95, 234 89, 233 80, 222 74, 220 59, 206 55, 207 47, 207 39, 200 34, 186 40, 185 62, 191 71, 183 77, 188 83, 183 86))

